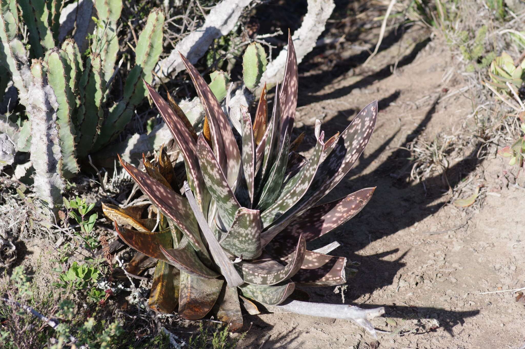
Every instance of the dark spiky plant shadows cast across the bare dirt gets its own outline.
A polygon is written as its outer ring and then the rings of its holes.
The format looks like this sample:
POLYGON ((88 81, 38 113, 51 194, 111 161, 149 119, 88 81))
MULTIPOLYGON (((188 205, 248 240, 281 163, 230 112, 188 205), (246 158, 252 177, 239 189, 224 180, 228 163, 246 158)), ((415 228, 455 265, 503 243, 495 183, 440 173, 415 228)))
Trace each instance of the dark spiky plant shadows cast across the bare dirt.
MULTIPOLYGON (((398 62, 398 67, 412 62, 417 53, 423 49, 429 43, 429 41, 429 39, 425 39, 421 43, 417 44, 410 54, 398 62)), ((304 89, 302 90, 301 96, 300 89, 299 101, 315 102, 343 97, 350 93, 354 88, 369 86, 373 82, 384 79, 391 74, 392 72, 390 70, 389 64, 381 70, 364 77, 358 82, 355 82, 351 86, 324 94, 318 99, 316 99, 317 97, 312 98, 314 96, 310 96, 308 92, 305 92, 304 89)), ((302 79, 302 77, 299 78, 299 86, 303 86, 302 79)), ((329 78, 329 80, 330 79, 331 78, 329 78)), ((323 79, 318 81, 319 86, 326 86, 327 83, 330 82, 325 82, 323 79)), ((400 94, 400 91, 396 91, 390 96, 378 101, 380 106, 378 118, 381 118, 381 109, 386 108, 388 104, 395 101, 400 96, 400 94)), ((330 201, 338 197, 348 195, 361 188, 377 186, 372 200, 358 216, 354 217, 339 229, 317 239, 316 241, 312 242, 312 244, 309 244, 309 249, 311 250, 337 240, 342 246, 335 250, 333 255, 344 256, 350 261, 357 261, 360 263, 360 266, 357 268, 359 269, 359 272, 354 278, 349 279, 350 289, 345 294, 346 303, 349 301, 351 303, 352 301, 361 298, 363 295, 370 295, 375 290, 379 290, 393 284, 394 277, 396 276, 397 272, 405 266, 403 258, 411 246, 406 246, 402 249, 395 248, 390 251, 383 251, 369 256, 361 256, 356 252, 371 244, 375 240, 395 234, 397 231, 411 227, 415 223, 436 214, 437 211, 444 205, 443 200, 435 203, 436 199, 442 196, 442 194, 437 193, 439 191, 437 191, 436 188, 447 188, 443 184, 443 175, 438 174, 425 179, 427 186, 430 184, 434 188, 432 193, 426 193, 422 183, 413 185, 409 181, 409 174, 406 173, 406 170, 412 165, 412 161, 409 159, 409 152, 404 149, 400 149, 400 147, 406 147, 407 143, 413 141, 417 136, 422 134, 436 112, 438 99, 439 97, 435 99, 434 103, 426 112, 423 120, 406 135, 406 138, 400 145, 393 144, 392 142, 394 141, 395 136, 401 132, 401 129, 393 132, 393 134, 388 137, 374 152, 368 155, 361 155, 359 163, 356 164, 349 174, 343 178, 341 183, 332 190, 332 192, 328 195, 328 199, 323 200, 330 201), (397 150, 393 151, 386 158, 386 160, 377 166, 372 172, 350 179, 352 176, 363 172, 372 164, 372 162, 379 158, 381 153, 386 151, 388 148, 397 148, 397 150), (398 252, 402 252, 402 255, 395 260, 384 260, 385 257, 394 255, 398 252)), ((357 112, 358 110, 354 109, 340 111, 336 117, 330 119, 326 123, 323 123, 321 129, 324 130, 328 136, 331 136, 337 131, 342 131, 344 127, 348 125, 349 121, 351 121, 348 115, 356 114, 357 112)), ((313 134, 313 127, 305 125, 299 129, 295 129, 293 132, 295 136, 297 136, 303 131, 306 132, 307 135, 311 135, 313 134)), ((301 145, 301 148, 299 149, 300 151, 306 151, 314 145, 313 139, 310 139, 308 136, 305 138, 304 143, 306 144, 301 145)), ((477 153, 481 145, 482 143, 478 142, 474 146, 474 149, 472 149, 472 151, 465 158, 463 158, 463 160, 459 161, 454 166, 451 166, 446 170, 446 176, 451 187, 455 187, 461 181, 461 179, 465 178, 471 172, 474 172, 476 167, 481 164, 483 160, 480 160, 477 157, 477 153)), ((418 233, 415 232, 414 234, 418 233)), ((323 303, 341 302, 340 294, 327 292, 325 288, 299 288, 308 291, 310 294, 310 301, 323 303)), ((451 336, 454 336, 454 326, 463 324, 465 322, 464 319, 475 316, 479 313, 479 310, 449 311, 443 308, 416 307, 408 304, 406 306, 400 306, 396 304, 385 305, 366 303, 366 305, 363 307, 375 308, 377 306, 385 306, 386 315, 388 315, 388 313, 391 311, 401 312, 401 317, 404 319, 414 319, 415 314, 421 318, 426 318, 431 314, 435 314, 434 316, 437 315, 440 320, 440 327, 447 331, 451 336)), ((262 328, 264 329, 263 331, 268 331, 272 327, 270 324, 262 321, 260 318, 253 319, 256 328, 262 328)), ((262 342, 260 339, 256 338, 257 334, 255 332, 256 331, 252 332, 251 334, 248 332, 246 340, 248 343, 255 341, 254 343, 261 344, 262 342)), ((421 334, 426 332, 419 333, 421 334)), ((282 338, 285 337, 286 336, 283 336, 282 338)), ((262 348, 281 347, 280 345, 282 345, 282 343, 277 344, 280 340, 282 339, 276 338, 273 341, 266 341, 262 348)))

